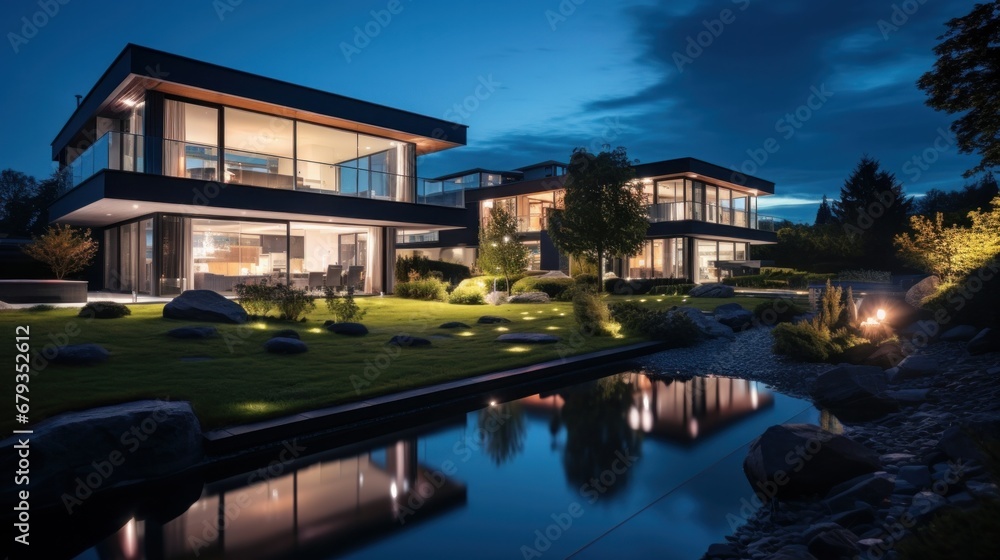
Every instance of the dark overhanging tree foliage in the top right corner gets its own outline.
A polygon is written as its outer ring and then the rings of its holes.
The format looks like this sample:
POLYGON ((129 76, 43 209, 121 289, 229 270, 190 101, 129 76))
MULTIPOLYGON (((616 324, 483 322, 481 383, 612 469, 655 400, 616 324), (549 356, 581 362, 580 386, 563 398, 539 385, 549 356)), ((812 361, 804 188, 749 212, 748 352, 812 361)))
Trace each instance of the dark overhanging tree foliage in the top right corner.
POLYGON ((962 114, 951 125, 958 150, 982 156, 965 172, 970 177, 1000 165, 1000 1, 976 4, 947 26, 934 47, 934 69, 917 87, 930 107, 962 114))

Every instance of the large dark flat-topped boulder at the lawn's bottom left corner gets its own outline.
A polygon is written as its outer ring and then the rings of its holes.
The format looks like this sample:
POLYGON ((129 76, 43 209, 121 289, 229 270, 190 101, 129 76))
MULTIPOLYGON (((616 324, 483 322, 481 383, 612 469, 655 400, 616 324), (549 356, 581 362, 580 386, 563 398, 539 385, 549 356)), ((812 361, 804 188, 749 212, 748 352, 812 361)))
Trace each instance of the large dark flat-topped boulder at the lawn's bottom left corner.
MULTIPOLYGON (((78 497, 86 490, 81 498, 85 500, 90 492, 175 475, 203 459, 201 426, 186 402, 146 400, 68 412, 43 420, 33 430, 33 511, 64 506, 64 495, 78 497)), ((2 443, 4 449, 16 444, 16 436, 2 443)), ((5 472, 16 471, 16 462, 13 452, 0 457, 5 472)), ((4 503, 16 503, 15 489, 2 487, 4 503)), ((70 504, 77 505, 72 500, 70 504)))

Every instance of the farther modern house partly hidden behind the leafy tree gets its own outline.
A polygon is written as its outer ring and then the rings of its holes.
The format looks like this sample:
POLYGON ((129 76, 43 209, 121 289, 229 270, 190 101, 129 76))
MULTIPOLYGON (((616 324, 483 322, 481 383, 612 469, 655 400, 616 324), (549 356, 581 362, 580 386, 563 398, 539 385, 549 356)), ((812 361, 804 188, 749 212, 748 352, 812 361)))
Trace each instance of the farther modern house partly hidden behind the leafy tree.
MULTIPOLYGON (((604 270, 628 278, 686 278, 714 282, 741 270, 759 268, 750 245, 776 243, 774 221, 757 213, 757 199, 774 194, 774 183, 734 173, 694 158, 635 166, 649 214, 646 243, 627 259, 610 259, 604 270)), ((492 208, 517 216, 529 267, 569 271, 546 232, 546 216, 561 204, 566 164, 546 161, 512 172, 473 169, 439 177, 465 189, 470 211, 465 229, 407 230, 397 251, 432 259, 475 262, 478 227, 492 208)))

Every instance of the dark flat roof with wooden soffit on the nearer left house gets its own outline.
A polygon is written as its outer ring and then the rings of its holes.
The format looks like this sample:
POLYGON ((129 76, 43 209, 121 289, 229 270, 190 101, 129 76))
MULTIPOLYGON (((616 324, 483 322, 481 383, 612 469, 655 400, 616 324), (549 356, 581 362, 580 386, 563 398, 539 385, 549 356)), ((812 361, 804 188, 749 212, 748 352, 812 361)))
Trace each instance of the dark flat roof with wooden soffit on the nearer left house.
POLYGON ((285 110, 289 118, 417 144, 418 154, 464 146, 468 126, 129 43, 52 141, 53 159, 113 94, 128 87, 237 107, 285 110))

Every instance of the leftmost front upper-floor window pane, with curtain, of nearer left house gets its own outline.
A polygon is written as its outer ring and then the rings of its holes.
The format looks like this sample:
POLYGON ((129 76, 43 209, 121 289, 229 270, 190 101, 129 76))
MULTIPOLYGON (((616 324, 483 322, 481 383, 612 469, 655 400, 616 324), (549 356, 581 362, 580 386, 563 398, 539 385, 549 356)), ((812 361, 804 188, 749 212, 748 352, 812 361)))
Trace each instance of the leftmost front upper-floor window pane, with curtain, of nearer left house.
POLYGON ((218 180, 219 110, 172 99, 163 110, 163 174, 218 180))

